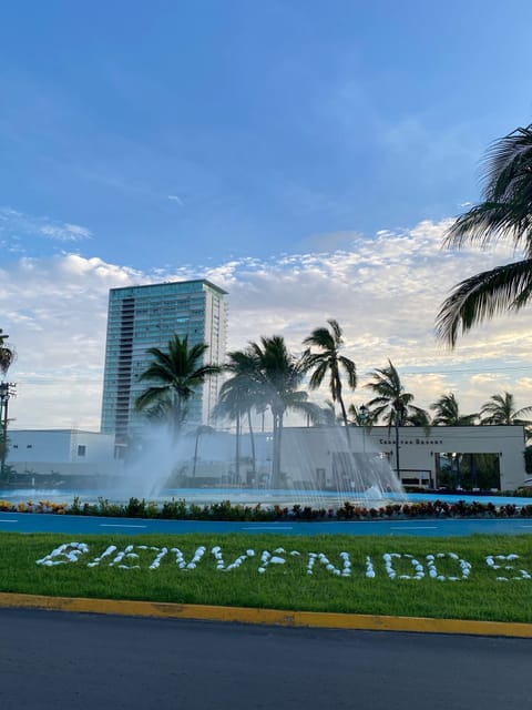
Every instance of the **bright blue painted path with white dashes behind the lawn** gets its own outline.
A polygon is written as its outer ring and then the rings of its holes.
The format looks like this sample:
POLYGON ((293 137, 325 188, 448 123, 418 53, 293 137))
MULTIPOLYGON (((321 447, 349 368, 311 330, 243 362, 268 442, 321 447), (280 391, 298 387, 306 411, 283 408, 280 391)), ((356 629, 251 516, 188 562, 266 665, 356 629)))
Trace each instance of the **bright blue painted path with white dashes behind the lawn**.
POLYGON ((418 535, 422 537, 468 536, 473 534, 518 535, 532 532, 532 518, 365 520, 326 523, 224 523, 206 520, 157 520, 103 518, 34 513, 0 513, 0 531, 64 532, 68 535, 188 532, 278 532, 280 535, 418 535))

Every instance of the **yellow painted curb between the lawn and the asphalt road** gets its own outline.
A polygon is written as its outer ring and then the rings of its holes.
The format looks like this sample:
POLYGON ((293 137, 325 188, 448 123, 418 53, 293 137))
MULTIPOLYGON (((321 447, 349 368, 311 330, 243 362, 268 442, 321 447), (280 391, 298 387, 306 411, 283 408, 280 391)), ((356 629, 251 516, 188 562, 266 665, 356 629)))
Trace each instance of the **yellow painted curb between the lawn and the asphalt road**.
POLYGON ((505 623, 502 621, 466 621, 462 619, 386 617, 366 613, 328 613, 319 611, 279 611, 276 609, 250 609, 246 607, 214 607, 195 604, 181 605, 156 601, 88 599, 80 597, 44 597, 40 595, 7 592, 0 592, 0 607, 85 613, 113 613, 164 619, 239 621, 242 623, 267 623, 272 626, 290 627, 532 638, 532 623, 505 623))

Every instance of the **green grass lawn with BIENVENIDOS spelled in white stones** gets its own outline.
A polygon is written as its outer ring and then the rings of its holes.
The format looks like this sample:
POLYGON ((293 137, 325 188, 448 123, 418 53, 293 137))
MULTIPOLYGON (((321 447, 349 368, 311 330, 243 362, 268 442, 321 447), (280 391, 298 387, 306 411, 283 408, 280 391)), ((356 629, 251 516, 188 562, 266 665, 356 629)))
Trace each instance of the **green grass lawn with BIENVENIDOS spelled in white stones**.
MULTIPOLYGON (((78 561, 37 564, 61 544, 72 540, 71 536, 57 534, 0 534, 0 591, 532 622, 532 578, 526 578, 526 574, 532 575, 532 539, 524 535, 467 538, 88 535, 78 540, 89 547, 78 561), (98 561, 110 546, 117 549, 98 561), (133 548, 126 550, 127 546, 133 548), (202 556, 197 550, 203 547, 202 556), (221 549, 213 552, 216 547, 221 549), (158 566, 150 569, 163 548, 168 551, 160 557, 158 566), (248 550, 255 555, 247 554, 248 550), (459 559, 449 556, 451 552, 471 567, 461 566, 459 559), (131 554, 137 557, 126 556, 131 554), (387 554, 393 554, 390 559, 396 571, 393 579, 387 571, 383 558, 387 554), (200 557, 195 568, 187 569, 195 555, 200 557), (437 574, 443 580, 430 577, 428 555, 434 556, 437 574), (512 566, 511 570, 494 569, 487 564, 487 557, 497 555, 519 558, 493 558, 497 565, 512 566), (241 564, 235 565, 238 558, 241 564), (424 572, 420 579, 415 578, 421 574, 415 560, 424 572), (184 567, 180 567, 180 561, 184 567), (309 569, 313 574, 308 574, 309 569), (367 576, 371 569, 375 577, 367 576), (450 577, 459 580, 451 581, 450 577), (498 577, 508 577, 509 581, 498 581, 498 577)), ((65 559, 62 555, 50 561, 65 559)))

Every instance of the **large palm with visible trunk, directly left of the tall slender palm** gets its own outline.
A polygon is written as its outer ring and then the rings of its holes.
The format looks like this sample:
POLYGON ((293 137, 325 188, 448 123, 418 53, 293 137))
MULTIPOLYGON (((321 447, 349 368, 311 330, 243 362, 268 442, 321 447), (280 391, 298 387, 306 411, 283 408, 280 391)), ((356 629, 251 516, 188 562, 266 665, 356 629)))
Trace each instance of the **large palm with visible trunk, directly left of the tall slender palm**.
POLYGON ((273 416, 272 487, 282 483, 280 454, 283 423, 287 409, 308 414, 318 419, 318 407, 307 402, 307 393, 299 389, 305 376, 304 358, 291 355, 283 336, 262 337, 259 343, 249 343, 254 359, 254 387, 258 406, 267 406, 273 416))

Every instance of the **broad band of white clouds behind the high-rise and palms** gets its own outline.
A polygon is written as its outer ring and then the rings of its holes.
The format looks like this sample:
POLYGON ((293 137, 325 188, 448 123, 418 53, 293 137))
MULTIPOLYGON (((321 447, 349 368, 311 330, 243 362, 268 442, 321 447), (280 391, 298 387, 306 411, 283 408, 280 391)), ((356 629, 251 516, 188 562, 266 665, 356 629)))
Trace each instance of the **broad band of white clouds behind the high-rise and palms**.
POLYGON ((341 251, 151 274, 75 254, 20 258, 0 270, 0 327, 19 351, 9 373, 19 385, 14 425, 98 428, 109 290, 197 277, 229 294, 229 348, 276 333, 300 352, 313 328, 338 320, 359 372, 354 402, 368 399, 368 372, 390 358, 421 406, 454 392, 470 413, 504 389, 518 406, 528 405, 532 335, 525 312, 477 328, 453 352, 434 339, 434 316, 451 286, 504 256, 441 251, 448 224, 423 222, 375 240, 354 233, 341 251))

